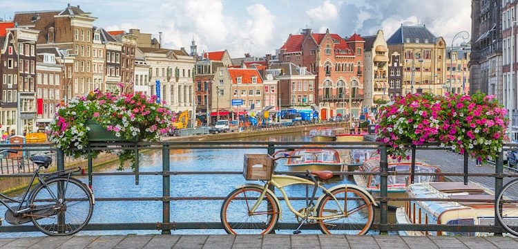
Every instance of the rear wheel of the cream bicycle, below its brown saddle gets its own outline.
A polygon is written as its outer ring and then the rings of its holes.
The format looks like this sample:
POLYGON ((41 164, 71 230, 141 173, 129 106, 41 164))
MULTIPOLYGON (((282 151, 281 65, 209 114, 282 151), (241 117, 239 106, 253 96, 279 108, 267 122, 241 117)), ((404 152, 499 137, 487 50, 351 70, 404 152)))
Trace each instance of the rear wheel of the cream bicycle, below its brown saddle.
POLYGON ((374 221, 374 205, 359 190, 341 187, 325 195, 318 204, 318 221, 324 234, 365 234, 374 221), (341 207, 341 208, 340 208, 341 207), (344 210, 345 214, 341 211, 344 210))

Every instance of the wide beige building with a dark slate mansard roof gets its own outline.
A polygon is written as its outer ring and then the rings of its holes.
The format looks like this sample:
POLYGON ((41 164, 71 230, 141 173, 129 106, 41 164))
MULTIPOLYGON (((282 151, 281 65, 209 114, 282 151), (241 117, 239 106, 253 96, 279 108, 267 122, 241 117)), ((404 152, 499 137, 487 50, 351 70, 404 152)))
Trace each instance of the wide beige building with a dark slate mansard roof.
MULTIPOLYGON (((436 37, 426 26, 401 25, 387 39, 391 57, 401 62, 401 77, 390 75, 401 82, 401 95, 407 93, 433 93, 443 95, 448 91, 445 85, 447 68, 446 43, 443 37, 436 37)), ((391 61, 392 63, 392 61, 391 61)), ((392 69, 392 68, 391 68, 392 69)), ((394 68, 397 70, 397 68, 394 68)), ((394 82, 394 86, 397 86, 394 82)), ((390 97, 393 89, 389 90, 390 97)))

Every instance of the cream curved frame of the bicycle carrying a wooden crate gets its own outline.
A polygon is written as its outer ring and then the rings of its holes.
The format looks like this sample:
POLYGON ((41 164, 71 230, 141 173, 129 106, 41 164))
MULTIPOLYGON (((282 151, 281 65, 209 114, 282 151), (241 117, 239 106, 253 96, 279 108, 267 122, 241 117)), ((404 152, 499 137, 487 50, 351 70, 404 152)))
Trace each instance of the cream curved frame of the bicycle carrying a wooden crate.
MULTIPOLYGON (((274 187, 276 187, 282 193, 282 196, 284 197, 289 210, 292 213, 294 213, 296 216, 304 217, 304 214, 301 214, 300 212, 295 210, 293 205, 291 205, 291 203, 289 202, 289 197, 286 194, 285 190, 283 189, 283 187, 286 187, 286 186, 289 186, 289 185, 298 185, 298 184, 313 185, 313 186, 315 185, 315 183, 313 181, 309 181, 309 180, 307 180, 305 178, 300 178, 298 176, 275 175, 275 174, 272 175, 271 176, 271 180, 267 181, 267 183, 264 185, 264 189, 262 190, 262 193, 260 194, 260 196, 258 198, 258 201, 253 205, 253 207, 251 208, 250 212, 252 212, 252 213, 256 212, 256 209, 258 208, 258 206, 261 203, 262 199, 265 198, 265 194, 268 191, 269 186, 273 185, 274 187)), ((338 186, 343 186, 343 185, 338 185, 338 186)), ((329 196, 332 196, 334 201, 336 201, 336 204, 338 204, 338 207, 340 207, 341 213, 345 213, 344 210, 343 210, 342 205, 340 205, 340 203, 338 202, 336 197, 329 190, 327 190, 327 188, 323 187, 320 184, 318 185, 318 188, 323 190, 323 192, 325 194, 328 194, 329 196)), ((319 199, 318 199, 318 201, 316 201, 313 210, 311 210, 312 212, 316 212, 316 208, 318 207, 318 203, 320 202, 320 199, 321 199, 321 197, 323 195, 324 194, 321 194, 319 199)), ((278 202, 278 199, 276 199, 276 201, 278 202)), ((277 204, 280 206, 280 203, 277 203, 277 204)), ((279 209, 279 216, 282 219, 282 215, 281 215, 280 209, 279 209)), ((337 216, 341 216, 341 215, 337 215, 337 216)), ((322 219, 329 219, 329 218, 333 218, 333 217, 332 216, 326 216, 325 218, 320 218, 320 217, 317 217, 317 216, 308 216, 307 217, 307 219, 311 219, 311 220, 322 220, 322 219)))

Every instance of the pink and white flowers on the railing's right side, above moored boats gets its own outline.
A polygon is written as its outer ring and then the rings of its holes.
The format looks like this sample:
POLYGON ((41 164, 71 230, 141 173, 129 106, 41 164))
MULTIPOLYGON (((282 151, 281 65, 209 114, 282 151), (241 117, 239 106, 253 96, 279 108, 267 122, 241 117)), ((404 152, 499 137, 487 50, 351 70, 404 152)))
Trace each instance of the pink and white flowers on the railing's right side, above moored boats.
POLYGON ((505 115, 495 97, 483 93, 408 94, 381 107, 377 140, 389 145, 387 152, 394 158, 409 158, 410 144, 441 142, 441 147, 486 161, 501 151, 507 139, 505 115))

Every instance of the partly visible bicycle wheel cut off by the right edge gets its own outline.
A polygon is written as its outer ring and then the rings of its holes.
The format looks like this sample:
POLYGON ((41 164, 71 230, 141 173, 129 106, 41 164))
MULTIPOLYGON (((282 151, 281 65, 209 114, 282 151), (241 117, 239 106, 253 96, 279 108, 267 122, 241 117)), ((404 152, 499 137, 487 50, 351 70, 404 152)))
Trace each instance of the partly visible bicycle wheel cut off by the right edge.
POLYGON ((495 208, 502 228, 512 235, 518 236, 518 179, 503 186, 497 198, 495 208))

